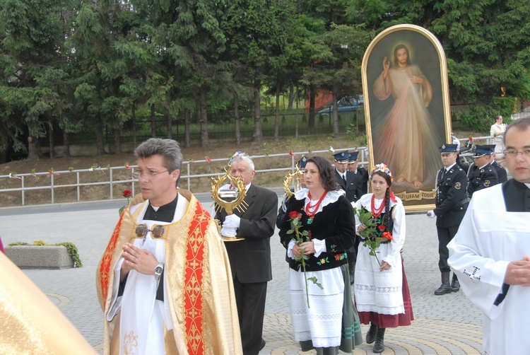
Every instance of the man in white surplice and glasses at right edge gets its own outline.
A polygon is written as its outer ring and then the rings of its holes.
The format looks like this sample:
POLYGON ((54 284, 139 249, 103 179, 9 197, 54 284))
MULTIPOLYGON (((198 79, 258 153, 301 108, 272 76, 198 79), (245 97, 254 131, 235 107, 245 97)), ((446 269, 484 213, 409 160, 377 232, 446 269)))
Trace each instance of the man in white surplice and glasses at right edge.
POLYGON ((530 119, 510 124, 505 147, 512 179, 473 194, 447 245, 462 291, 484 313, 488 355, 530 351, 530 119))

